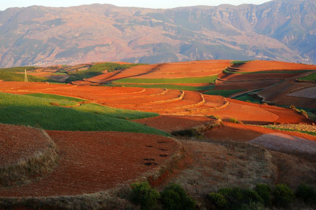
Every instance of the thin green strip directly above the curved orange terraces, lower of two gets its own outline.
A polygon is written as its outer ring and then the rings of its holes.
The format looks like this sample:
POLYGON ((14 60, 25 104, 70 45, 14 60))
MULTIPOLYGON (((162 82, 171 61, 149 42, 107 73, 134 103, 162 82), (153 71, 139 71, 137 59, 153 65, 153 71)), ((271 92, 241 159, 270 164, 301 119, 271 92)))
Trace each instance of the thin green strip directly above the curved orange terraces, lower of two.
POLYGON ((142 88, 167 88, 173 90, 191 90, 191 91, 199 91, 199 90, 211 90, 215 88, 215 85, 208 86, 189 86, 189 85, 170 85, 170 84, 160 84, 160 85, 137 85, 137 84, 105 84, 104 86, 114 86, 114 87, 142 87, 142 88))

